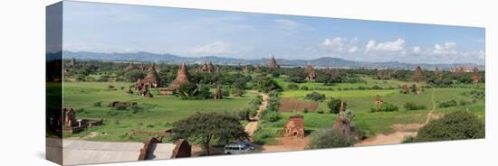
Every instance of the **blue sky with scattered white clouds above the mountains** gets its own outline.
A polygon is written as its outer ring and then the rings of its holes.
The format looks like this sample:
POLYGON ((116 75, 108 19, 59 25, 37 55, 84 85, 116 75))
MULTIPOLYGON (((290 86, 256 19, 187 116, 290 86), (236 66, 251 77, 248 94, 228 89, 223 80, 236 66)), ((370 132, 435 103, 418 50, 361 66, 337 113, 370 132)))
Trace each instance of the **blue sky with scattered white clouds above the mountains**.
POLYGON ((64 2, 63 50, 484 65, 484 28, 64 2))

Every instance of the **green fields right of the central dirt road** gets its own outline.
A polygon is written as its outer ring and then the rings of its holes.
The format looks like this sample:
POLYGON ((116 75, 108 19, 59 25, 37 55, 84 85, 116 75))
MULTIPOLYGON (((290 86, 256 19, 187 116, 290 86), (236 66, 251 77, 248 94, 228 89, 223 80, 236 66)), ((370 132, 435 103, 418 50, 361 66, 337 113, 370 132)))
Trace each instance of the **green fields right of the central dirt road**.
MULTIPOLYGON (((280 81, 284 81, 283 78, 280 81)), ((369 80, 371 81, 371 80, 369 80)), ((369 82, 368 81, 368 82, 369 82)), ((381 82, 369 82, 363 84, 362 86, 370 86, 369 84, 375 84, 380 87, 388 87, 393 85, 393 83, 404 85, 402 81, 381 81, 381 82)), ((279 82, 280 83, 280 82, 279 82)), ((319 83, 308 82, 299 84, 300 86, 312 86, 317 87, 323 86, 319 83)), ((472 97, 462 95, 464 92, 470 92, 472 90, 482 89, 484 84, 477 85, 464 85, 456 86, 458 88, 423 88, 421 94, 401 94, 399 88, 395 89, 379 89, 379 90, 289 90, 283 91, 281 97, 297 97, 305 100, 306 94, 312 91, 325 94, 326 97, 340 97, 348 103, 347 110, 352 111, 355 114, 354 123, 356 126, 365 134, 373 136, 375 134, 388 134, 392 132, 391 126, 393 124, 423 124, 426 121, 426 115, 433 108, 432 96, 434 94, 434 102, 436 104, 436 109, 434 110, 435 115, 444 115, 451 111, 456 110, 468 110, 481 119, 484 120, 484 99, 478 99, 475 103, 467 106, 450 106, 445 108, 438 107, 439 103, 455 100, 459 101, 472 101, 472 97), (380 112, 380 113, 370 113, 371 107, 375 106, 374 101, 376 96, 380 95, 384 102, 396 105, 399 111, 396 112, 380 112), (415 102, 418 105, 426 106, 423 110, 406 110, 403 106, 407 102, 415 102)), ((343 85, 326 86, 326 87, 337 87, 343 85)), ((345 87, 345 86, 344 86, 345 87)), ((267 133, 273 132, 274 135, 281 135, 281 130, 283 124, 286 122, 288 117, 292 114, 304 115, 304 127, 309 133, 312 133, 323 127, 330 127, 333 125, 336 115, 328 113, 327 100, 321 101, 319 103, 319 109, 324 114, 318 113, 283 113, 282 119, 274 123, 263 123, 260 127, 260 131, 257 131, 256 136, 259 136, 261 143, 275 143, 273 138, 261 138, 261 135, 269 135, 267 133)))

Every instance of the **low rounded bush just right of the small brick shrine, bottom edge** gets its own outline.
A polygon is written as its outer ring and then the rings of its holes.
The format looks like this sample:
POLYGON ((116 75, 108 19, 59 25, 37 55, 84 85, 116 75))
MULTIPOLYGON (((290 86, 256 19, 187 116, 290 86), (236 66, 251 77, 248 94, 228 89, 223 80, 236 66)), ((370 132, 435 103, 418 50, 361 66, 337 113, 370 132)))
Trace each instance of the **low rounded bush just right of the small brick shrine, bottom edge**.
POLYGON ((353 144, 354 141, 348 135, 330 128, 321 130, 318 134, 313 135, 307 149, 348 147, 353 144))

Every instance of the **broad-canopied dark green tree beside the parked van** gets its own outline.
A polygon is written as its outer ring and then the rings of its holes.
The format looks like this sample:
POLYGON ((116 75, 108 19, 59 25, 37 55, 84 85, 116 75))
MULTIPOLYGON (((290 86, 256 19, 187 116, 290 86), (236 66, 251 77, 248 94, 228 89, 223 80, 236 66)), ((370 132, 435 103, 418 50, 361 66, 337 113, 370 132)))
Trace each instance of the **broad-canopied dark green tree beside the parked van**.
POLYGON ((220 113, 190 115, 186 119, 175 122, 171 132, 175 140, 183 138, 202 144, 207 155, 209 155, 210 143, 213 140, 219 143, 229 143, 249 139, 239 118, 220 113))

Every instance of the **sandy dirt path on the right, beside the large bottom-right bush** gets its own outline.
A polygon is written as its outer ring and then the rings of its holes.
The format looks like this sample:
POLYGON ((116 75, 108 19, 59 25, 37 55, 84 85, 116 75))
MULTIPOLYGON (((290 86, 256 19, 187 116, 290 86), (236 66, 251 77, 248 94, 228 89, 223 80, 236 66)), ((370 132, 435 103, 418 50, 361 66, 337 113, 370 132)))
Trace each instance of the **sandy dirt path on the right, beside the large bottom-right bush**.
POLYGON ((417 136, 418 129, 428 124, 430 119, 437 118, 437 115, 433 115, 436 109, 436 102, 434 101, 434 94, 436 90, 433 88, 432 91, 432 109, 429 111, 426 117, 426 123, 424 124, 394 124, 391 126, 394 133, 392 134, 377 134, 373 138, 363 140, 361 143, 355 144, 355 146, 371 146, 380 144, 397 144, 402 143, 407 136, 417 136))

